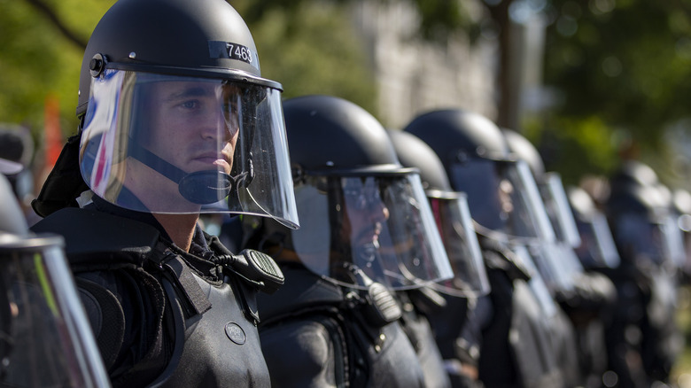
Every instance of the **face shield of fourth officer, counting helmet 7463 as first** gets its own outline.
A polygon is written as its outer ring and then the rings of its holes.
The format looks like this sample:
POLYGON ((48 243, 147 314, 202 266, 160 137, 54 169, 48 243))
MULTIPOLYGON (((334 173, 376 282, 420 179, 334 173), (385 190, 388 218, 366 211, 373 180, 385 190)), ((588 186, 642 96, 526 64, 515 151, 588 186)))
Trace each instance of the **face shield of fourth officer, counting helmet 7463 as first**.
POLYGON ((479 233, 554 239, 535 180, 523 161, 467 159, 449 171, 454 190, 468 195, 479 233))

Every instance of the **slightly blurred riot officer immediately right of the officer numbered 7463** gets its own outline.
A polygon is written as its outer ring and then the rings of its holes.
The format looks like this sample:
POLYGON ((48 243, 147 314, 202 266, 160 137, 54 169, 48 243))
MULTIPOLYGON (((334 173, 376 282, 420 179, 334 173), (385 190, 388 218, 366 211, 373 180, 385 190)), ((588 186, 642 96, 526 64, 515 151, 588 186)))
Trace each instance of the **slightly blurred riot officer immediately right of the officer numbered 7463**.
MULTIPOLYGON (((418 173, 401 167, 385 129, 358 105, 306 96, 283 112, 301 227, 245 217, 246 246, 285 275, 259 299, 271 383, 448 386, 443 372, 423 370, 392 292, 453 275, 418 173)), ((424 346, 439 357, 433 340, 424 346)))

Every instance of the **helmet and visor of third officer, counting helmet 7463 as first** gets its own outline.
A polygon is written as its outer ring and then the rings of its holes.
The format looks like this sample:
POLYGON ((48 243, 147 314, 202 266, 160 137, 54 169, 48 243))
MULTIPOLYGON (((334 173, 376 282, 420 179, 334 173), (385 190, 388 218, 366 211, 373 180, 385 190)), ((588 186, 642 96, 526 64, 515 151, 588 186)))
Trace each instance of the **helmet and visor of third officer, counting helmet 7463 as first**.
POLYGON ((432 283, 431 287, 458 297, 487 294, 489 280, 465 194, 451 189, 446 170, 429 145, 408 132, 388 130, 388 133, 400 164, 420 170, 425 194, 454 269, 453 279, 432 283))

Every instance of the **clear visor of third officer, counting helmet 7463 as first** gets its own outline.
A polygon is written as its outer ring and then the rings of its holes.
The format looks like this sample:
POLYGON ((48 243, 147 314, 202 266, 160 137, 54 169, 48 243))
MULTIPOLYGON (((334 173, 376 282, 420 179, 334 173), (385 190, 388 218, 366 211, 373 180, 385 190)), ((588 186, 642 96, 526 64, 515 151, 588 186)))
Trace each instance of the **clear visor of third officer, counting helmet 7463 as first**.
POLYGON ((485 264, 470 218, 466 196, 456 192, 427 190, 454 277, 431 288, 456 297, 480 297, 490 291, 485 264))

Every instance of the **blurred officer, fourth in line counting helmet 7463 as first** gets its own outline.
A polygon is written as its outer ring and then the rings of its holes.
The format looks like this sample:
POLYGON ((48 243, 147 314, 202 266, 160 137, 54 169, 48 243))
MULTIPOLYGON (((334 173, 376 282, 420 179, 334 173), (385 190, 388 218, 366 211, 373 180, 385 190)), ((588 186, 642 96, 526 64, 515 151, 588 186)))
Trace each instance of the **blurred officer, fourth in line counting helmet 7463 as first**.
POLYGON ((540 198, 530 170, 512 159, 506 140, 491 120, 463 110, 424 113, 404 128, 429 144, 446 169, 451 186, 468 195, 470 214, 490 281, 478 299, 475 332, 482 335, 478 376, 487 387, 561 387, 563 376, 551 345, 551 299, 530 255, 516 244, 539 237, 540 198))

